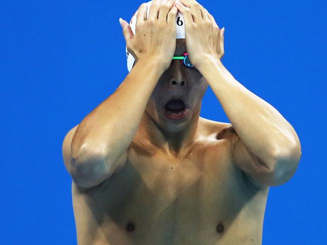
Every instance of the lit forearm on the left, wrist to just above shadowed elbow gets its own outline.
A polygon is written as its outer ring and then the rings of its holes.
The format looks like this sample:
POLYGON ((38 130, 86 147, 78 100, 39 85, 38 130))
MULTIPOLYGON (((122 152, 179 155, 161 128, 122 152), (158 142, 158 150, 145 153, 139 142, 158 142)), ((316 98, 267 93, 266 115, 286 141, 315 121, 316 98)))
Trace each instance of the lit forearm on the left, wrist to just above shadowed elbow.
POLYGON ((159 66, 139 60, 125 80, 79 124, 71 156, 105 156, 114 162, 127 150, 148 99, 162 74, 159 66))

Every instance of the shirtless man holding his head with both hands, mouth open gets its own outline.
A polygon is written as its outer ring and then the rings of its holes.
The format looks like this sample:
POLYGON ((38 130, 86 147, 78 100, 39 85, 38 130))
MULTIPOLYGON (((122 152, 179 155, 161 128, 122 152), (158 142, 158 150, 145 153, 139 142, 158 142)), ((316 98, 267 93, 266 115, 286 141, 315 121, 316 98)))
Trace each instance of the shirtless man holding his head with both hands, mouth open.
POLYGON ((223 66, 213 17, 180 2, 154 0, 148 19, 141 5, 135 37, 121 21, 137 62, 64 138, 79 245, 259 245, 269 186, 297 169, 292 126, 223 66), (193 67, 172 59, 186 52, 193 67), (231 124, 199 116, 208 85, 231 124))

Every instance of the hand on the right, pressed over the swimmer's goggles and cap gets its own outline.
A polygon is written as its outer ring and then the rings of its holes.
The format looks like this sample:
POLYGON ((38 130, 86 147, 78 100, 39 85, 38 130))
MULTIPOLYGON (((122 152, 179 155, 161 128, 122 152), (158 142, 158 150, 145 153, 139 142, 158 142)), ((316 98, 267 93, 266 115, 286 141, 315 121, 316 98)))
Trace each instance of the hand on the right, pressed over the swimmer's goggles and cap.
POLYGON ((219 29, 212 15, 195 0, 180 0, 175 6, 185 20, 186 50, 195 67, 204 59, 224 55, 224 28, 219 29), (186 8, 188 7, 188 8, 186 8))

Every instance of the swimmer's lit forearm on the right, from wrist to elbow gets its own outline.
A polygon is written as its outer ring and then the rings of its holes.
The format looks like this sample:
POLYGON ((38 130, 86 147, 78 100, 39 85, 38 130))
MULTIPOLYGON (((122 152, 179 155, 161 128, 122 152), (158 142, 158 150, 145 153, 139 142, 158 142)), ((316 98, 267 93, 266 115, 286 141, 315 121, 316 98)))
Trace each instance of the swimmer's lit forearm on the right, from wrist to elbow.
POLYGON ((268 102, 241 85, 217 58, 199 68, 243 144, 259 159, 273 162, 299 148, 289 122, 268 102))

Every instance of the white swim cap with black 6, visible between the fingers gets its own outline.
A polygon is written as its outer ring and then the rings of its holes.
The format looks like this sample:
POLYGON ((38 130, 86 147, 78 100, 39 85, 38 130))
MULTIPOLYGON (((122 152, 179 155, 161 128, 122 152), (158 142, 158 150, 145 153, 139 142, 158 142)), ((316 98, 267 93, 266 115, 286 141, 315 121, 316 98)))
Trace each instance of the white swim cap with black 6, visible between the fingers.
MULTIPOLYGON (((153 1, 147 2, 147 10, 146 10, 146 18, 149 18, 149 11, 150 11, 150 6, 153 1)), ((176 3, 181 4, 179 0, 176 0, 176 3)), ((138 10, 135 12, 133 15, 131 21, 129 22, 129 25, 133 31, 133 34, 135 35, 135 29, 136 29, 136 16, 137 16, 138 10)), ((184 17, 181 12, 177 11, 176 15, 176 30, 177 30, 177 39, 182 39, 185 38, 185 22, 184 22, 184 17)), ((126 46, 126 56, 127 56, 127 69, 128 72, 132 70, 132 67, 134 65, 134 57, 131 53, 128 52, 127 46, 126 46)))

